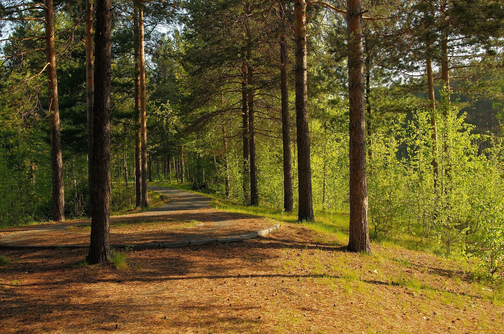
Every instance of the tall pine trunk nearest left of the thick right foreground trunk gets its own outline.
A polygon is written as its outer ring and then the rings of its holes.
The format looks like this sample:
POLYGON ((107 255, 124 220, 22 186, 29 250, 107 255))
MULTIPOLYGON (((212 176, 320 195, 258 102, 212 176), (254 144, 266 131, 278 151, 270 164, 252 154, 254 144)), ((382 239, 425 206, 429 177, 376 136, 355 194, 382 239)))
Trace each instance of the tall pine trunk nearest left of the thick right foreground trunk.
POLYGON ((308 128, 308 95, 306 87, 306 2, 295 0, 296 43, 296 138, 299 193, 299 221, 314 221, 311 195, 310 137, 308 128))

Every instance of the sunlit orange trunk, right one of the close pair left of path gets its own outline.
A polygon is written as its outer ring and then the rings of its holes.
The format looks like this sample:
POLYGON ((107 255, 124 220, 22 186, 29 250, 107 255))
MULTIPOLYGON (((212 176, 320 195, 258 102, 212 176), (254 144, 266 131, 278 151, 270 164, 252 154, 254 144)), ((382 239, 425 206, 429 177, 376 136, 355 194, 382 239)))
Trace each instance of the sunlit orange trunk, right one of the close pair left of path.
POLYGON ((142 155, 142 208, 149 207, 147 195, 147 114, 145 110, 145 49, 144 49, 144 4, 138 8, 138 37, 140 51, 140 152, 142 155))

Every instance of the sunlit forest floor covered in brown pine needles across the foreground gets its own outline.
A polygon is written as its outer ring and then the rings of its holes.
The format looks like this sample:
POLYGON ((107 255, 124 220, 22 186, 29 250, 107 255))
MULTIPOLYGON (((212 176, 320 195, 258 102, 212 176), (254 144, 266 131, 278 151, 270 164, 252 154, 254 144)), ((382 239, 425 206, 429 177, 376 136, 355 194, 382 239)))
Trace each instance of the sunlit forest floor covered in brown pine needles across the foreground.
POLYGON ((125 253, 121 270, 86 265, 86 249, 2 250, 0 328, 504 332, 502 297, 473 282, 470 262, 392 242, 372 242, 372 255, 353 254, 345 251, 347 242, 345 231, 283 222, 279 230, 241 243, 133 250, 125 253))

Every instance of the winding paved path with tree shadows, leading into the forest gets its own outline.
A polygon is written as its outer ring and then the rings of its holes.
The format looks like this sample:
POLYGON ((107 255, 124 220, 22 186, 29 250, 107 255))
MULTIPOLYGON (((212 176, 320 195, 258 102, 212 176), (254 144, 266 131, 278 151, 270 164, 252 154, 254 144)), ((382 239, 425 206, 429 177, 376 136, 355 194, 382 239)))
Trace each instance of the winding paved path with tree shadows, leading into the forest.
MULTIPOLYGON (((110 243, 135 244, 220 238, 271 225, 271 221, 265 219, 213 209, 210 207, 212 199, 209 197, 173 188, 149 188, 173 201, 144 212, 110 217, 110 243)), ((85 228, 89 223, 90 220, 87 219, 0 229, 0 244, 89 244, 89 228, 85 228), (75 228, 79 225, 84 227, 75 228)))

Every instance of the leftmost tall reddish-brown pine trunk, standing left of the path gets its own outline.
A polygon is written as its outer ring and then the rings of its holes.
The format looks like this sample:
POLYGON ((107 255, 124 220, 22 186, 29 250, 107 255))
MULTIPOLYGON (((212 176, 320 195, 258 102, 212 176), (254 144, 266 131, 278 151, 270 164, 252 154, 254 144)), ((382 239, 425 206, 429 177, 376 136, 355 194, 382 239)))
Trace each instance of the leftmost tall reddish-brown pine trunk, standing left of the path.
POLYGON ((61 124, 59 123, 52 0, 46 0, 45 7, 45 54, 46 63, 49 64, 47 66, 47 93, 51 136, 52 219, 59 221, 65 220, 65 193, 63 187, 63 158, 61 154, 61 124))

